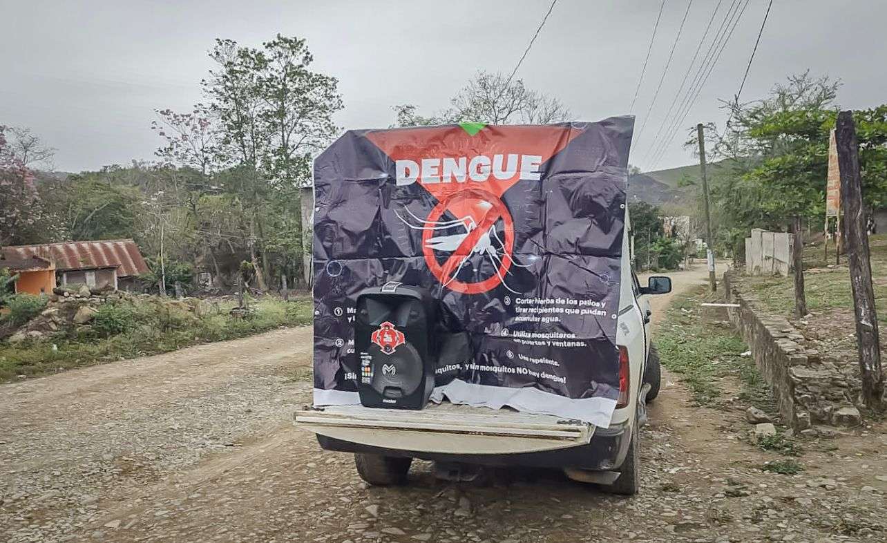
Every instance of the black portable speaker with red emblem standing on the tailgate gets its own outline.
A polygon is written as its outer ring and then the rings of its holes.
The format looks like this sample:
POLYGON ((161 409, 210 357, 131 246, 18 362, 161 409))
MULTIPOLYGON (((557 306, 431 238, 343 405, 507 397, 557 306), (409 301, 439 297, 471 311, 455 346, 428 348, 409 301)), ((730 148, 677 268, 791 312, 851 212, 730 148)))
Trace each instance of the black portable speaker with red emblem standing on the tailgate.
POLYGON ((357 296, 357 391, 367 407, 421 409, 435 386, 436 303, 419 287, 389 282, 357 296))

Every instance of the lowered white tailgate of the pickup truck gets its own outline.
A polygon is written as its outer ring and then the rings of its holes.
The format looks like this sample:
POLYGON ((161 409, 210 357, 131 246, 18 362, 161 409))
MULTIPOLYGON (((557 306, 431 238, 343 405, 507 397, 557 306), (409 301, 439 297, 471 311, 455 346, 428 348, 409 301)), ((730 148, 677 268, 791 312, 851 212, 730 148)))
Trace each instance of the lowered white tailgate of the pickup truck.
POLYGON ((585 445, 593 425, 506 409, 429 404, 420 411, 363 405, 305 407, 296 425, 343 441, 422 453, 506 454, 585 445))

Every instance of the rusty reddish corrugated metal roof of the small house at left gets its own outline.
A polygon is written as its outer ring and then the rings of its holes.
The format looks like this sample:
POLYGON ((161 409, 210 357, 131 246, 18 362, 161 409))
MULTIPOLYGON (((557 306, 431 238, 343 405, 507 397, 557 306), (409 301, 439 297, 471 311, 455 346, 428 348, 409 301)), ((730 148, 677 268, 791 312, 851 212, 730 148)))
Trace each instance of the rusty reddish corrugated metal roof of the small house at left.
POLYGON ((66 241, 44 245, 19 245, 3 248, 10 259, 42 256, 55 263, 56 269, 84 270, 117 268, 117 277, 139 275, 148 271, 145 259, 133 240, 66 241))

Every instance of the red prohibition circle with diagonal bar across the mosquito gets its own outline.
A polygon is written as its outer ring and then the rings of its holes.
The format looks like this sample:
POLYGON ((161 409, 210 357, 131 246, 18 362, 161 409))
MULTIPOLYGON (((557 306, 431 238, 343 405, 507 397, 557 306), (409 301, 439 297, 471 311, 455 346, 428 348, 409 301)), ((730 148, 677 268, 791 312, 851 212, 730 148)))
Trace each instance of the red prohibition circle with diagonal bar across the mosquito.
POLYGON ((434 249, 428 247, 428 240, 434 235, 434 231, 425 230, 422 232, 422 253, 425 255, 425 262, 428 264, 428 269, 431 270, 431 273, 434 274, 442 285, 462 294, 480 294, 491 288, 498 287, 499 283, 502 282, 499 277, 505 277, 506 272, 511 267, 511 255, 512 250, 514 249, 514 221, 508 213, 508 208, 506 208, 505 203, 499 200, 498 196, 493 193, 488 193, 480 189, 467 189, 452 194, 449 198, 438 202, 435 208, 431 209, 431 212, 426 219, 426 223, 431 224, 440 219, 440 217, 443 216, 443 213, 451 210, 453 206, 461 206, 468 209, 473 204, 483 204, 484 202, 490 204, 491 208, 487 209, 483 216, 478 217, 480 218, 480 223, 477 224, 474 230, 468 232, 465 240, 462 240, 461 244, 459 244, 459 248, 456 248, 443 264, 437 262, 434 249), (503 242, 505 247, 503 249, 505 250, 506 256, 501 259, 498 273, 476 283, 468 283, 460 281, 459 279, 454 279, 452 275, 459 269, 459 260, 471 256, 472 249, 475 248, 477 241, 480 240, 481 236, 485 235, 492 226, 495 226, 499 219, 502 219, 502 222, 505 224, 505 240, 503 242))

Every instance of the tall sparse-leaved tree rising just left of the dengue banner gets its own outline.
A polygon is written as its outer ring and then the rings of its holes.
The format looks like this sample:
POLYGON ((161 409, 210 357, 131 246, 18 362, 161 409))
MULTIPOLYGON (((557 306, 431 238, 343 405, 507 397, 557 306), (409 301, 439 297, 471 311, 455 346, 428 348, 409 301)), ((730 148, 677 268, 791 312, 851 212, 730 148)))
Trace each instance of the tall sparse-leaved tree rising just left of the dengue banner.
POLYGON ((227 177, 248 216, 247 245, 259 287, 266 287, 273 249, 294 252, 288 261, 302 277, 299 188, 310 185, 310 161, 334 138, 333 115, 342 107, 334 77, 310 69, 313 56, 300 38, 277 35, 260 48, 216 40, 216 62, 204 80, 208 110, 221 123, 223 160, 237 164, 227 177), (271 207, 287 209, 293 240, 271 243, 271 207), (260 254, 263 256, 260 263, 260 254))

